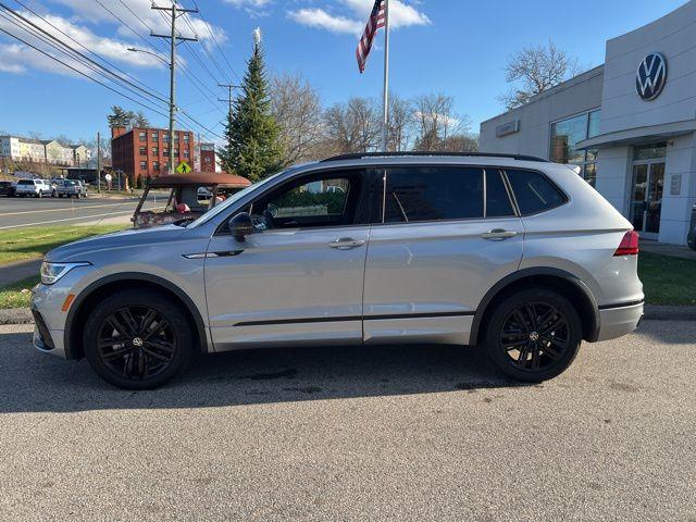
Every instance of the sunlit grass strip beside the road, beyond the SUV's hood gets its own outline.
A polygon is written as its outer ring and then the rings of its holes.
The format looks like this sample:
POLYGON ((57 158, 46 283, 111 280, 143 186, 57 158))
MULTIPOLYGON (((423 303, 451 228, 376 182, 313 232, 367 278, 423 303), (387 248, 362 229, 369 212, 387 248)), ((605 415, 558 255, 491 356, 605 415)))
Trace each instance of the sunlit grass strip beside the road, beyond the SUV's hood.
POLYGON ((40 258, 49 250, 84 237, 126 228, 127 225, 27 226, 0 232, 0 266, 40 258))

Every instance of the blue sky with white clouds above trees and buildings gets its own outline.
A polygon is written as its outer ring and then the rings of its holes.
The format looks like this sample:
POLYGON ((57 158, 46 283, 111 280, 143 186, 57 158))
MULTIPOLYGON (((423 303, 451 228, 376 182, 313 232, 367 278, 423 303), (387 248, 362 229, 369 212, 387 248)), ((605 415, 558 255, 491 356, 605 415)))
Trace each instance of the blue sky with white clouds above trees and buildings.
MULTIPOLYGON (((170 0, 156 1, 171 5, 170 0)), ((136 84, 138 87, 169 99, 169 70, 161 60, 127 50, 164 52, 166 48, 166 40, 149 36, 150 28, 167 32, 161 13, 150 9, 151 0, 2 3, 82 52, 87 54, 87 48, 105 58, 109 69, 127 73, 141 83, 136 84)), ((182 36, 198 36, 199 41, 178 46, 185 69, 177 72, 176 101, 208 130, 187 126, 219 141, 215 134, 222 134, 226 103, 217 98, 226 98, 227 91, 217 84, 240 82, 257 27, 262 33, 270 74, 300 73, 315 87, 325 105, 351 96, 380 98, 382 37, 376 40, 364 74, 359 74, 355 58, 372 3, 373 0, 179 0, 181 7, 199 8, 198 14, 178 20, 182 36)), ((607 39, 641 27, 683 3, 684 0, 390 0, 390 88, 402 98, 437 91, 451 96, 457 113, 468 115, 471 130, 477 132, 480 122, 504 111, 499 96, 509 89, 504 67, 514 52, 550 39, 584 69, 591 69, 602 63, 607 39)), ((0 132, 92 139, 98 130, 108 132, 105 115, 113 104, 142 110, 151 124, 166 127, 165 107, 159 109, 161 114, 144 109, 2 33, 7 30, 46 48, 3 17, 8 15, 0 7, 0 132)), ((57 51, 50 53, 75 65, 57 51)), ((96 76, 82 65, 76 69, 96 76)))

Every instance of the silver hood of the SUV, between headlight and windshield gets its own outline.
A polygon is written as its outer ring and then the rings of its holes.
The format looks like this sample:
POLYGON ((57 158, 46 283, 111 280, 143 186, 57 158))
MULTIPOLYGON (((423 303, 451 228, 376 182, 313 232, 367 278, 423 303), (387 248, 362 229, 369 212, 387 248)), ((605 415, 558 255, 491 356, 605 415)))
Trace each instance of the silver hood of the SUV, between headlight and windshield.
POLYGON ((46 260, 51 262, 89 261, 94 253, 107 250, 138 247, 141 245, 157 245, 167 243, 186 232, 186 228, 176 225, 162 225, 152 228, 129 228, 127 231, 112 232, 101 236, 88 237, 74 243, 69 243, 54 248, 46 254, 46 260))

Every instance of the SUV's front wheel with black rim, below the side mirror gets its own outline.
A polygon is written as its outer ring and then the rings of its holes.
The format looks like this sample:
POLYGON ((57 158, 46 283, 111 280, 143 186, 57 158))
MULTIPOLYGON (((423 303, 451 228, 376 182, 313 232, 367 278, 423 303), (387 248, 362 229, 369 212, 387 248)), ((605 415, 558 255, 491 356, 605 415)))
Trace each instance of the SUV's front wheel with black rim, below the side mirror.
POLYGON ((184 311, 167 299, 151 290, 122 290, 95 307, 84 347, 101 378, 120 388, 152 389, 186 368, 194 335, 184 311))

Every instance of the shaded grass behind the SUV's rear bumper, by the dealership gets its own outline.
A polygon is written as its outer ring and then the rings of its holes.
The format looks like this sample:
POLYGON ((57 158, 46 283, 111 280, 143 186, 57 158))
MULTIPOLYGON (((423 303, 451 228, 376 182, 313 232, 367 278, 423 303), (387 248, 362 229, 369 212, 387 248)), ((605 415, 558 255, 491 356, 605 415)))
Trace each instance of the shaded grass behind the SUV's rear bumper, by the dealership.
POLYGON ((696 261, 641 252, 638 275, 650 304, 696 304, 696 261))

